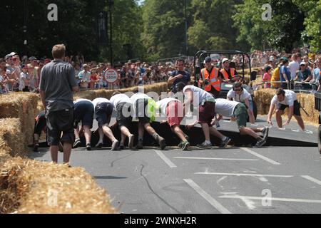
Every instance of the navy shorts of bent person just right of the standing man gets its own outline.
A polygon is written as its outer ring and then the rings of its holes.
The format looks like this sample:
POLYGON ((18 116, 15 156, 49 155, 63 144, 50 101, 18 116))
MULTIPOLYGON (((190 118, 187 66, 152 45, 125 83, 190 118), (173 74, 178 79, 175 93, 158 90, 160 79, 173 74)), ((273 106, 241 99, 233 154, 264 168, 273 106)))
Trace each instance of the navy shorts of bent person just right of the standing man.
POLYGON ((78 127, 78 123, 81 125, 93 128, 93 103, 82 100, 75 104, 73 108, 74 123, 73 128, 78 127))

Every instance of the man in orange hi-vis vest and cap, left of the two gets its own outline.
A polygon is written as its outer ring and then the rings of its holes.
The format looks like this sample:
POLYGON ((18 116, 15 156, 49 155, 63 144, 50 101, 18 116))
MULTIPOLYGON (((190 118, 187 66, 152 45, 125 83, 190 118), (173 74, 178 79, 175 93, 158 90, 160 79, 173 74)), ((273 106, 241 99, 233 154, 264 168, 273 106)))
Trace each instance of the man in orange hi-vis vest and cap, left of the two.
POLYGON ((212 65, 212 58, 206 57, 204 64, 205 68, 200 71, 201 78, 198 81, 198 87, 213 94, 216 98, 220 95, 220 78, 223 79, 222 73, 212 65))

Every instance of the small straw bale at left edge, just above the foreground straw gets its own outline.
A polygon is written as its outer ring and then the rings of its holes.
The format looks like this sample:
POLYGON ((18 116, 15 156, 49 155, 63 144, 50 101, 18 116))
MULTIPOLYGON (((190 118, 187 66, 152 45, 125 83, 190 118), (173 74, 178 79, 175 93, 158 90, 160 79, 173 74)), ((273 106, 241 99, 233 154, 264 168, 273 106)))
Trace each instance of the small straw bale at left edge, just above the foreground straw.
POLYGON ((0 148, 11 156, 24 155, 26 152, 24 133, 17 118, 0 119, 0 148))

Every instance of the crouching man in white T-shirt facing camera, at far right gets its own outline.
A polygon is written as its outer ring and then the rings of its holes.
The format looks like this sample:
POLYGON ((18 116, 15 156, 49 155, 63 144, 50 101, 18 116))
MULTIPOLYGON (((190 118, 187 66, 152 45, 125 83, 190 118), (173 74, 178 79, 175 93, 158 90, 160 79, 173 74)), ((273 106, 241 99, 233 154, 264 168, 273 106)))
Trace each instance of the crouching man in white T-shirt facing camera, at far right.
POLYGON ((297 102, 297 95, 295 92, 292 90, 283 90, 282 88, 276 90, 276 94, 271 100, 269 114, 267 115, 267 123, 270 125, 272 125, 272 115, 275 110, 275 106, 277 107, 276 120, 279 128, 289 125, 292 115, 294 115, 295 119, 297 120, 297 124, 303 131, 305 131, 305 123, 303 122, 300 113, 300 103, 297 102), (289 108, 287 121, 282 124, 282 114, 287 107, 289 108))

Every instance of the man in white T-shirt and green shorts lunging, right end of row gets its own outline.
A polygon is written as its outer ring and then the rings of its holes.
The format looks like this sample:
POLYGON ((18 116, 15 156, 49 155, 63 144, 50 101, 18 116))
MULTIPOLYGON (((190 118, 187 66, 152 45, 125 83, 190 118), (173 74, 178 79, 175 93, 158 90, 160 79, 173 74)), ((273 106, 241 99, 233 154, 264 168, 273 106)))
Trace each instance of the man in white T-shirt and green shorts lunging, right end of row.
POLYGON ((240 131, 240 134, 250 135, 258 140, 254 147, 262 147, 266 143, 269 128, 247 128, 246 123, 248 120, 248 109, 243 103, 232 100, 216 99, 215 112, 218 113, 220 117, 218 120, 213 120, 213 124, 215 124, 215 121, 220 121, 223 116, 228 118, 236 118, 236 123, 238 123, 238 130, 240 131), (257 133, 263 133, 263 138, 261 138, 257 133))

